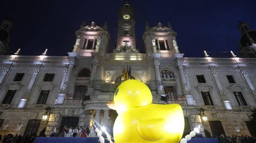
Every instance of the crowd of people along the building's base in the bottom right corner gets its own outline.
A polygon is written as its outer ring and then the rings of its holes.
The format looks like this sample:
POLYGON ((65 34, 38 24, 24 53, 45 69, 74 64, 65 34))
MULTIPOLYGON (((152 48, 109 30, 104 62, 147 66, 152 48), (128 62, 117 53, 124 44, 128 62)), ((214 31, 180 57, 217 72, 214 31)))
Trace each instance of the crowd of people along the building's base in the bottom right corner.
POLYGON ((241 136, 233 134, 232 137, 221 134, 219 136, 219 142, 220 143, 251 143, 251 142, 255 143, 256 138, 250 137, 249 135, 244 135, 244 134, 242 134, 241 136))

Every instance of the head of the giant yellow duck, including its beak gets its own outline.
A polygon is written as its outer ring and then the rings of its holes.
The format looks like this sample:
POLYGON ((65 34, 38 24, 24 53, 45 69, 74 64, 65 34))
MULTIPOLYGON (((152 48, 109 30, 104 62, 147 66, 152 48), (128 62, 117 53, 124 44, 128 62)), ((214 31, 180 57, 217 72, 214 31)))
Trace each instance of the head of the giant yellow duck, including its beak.
POLYGON ((152 94, 147 85, 138 80, 127 80, 114 92, 114 99, 107 106, 117 110, 118 114, 132 108, 152 103, 152 94))

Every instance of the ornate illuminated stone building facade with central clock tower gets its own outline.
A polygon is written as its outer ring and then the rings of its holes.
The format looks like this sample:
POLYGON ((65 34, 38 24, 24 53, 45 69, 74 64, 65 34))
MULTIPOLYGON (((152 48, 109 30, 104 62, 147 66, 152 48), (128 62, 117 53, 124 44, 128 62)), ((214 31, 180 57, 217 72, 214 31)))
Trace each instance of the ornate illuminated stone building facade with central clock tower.
POLYGON ((110 51, 107 25, 95 23, 76 32, 69 56, 0 56, 0 134, 30 135, 46 128, 46 135, 64 125, 84 126, 93 119, 112 126, 117 113, 107 108, 124 80, 124 68, 143 81, 157 104, 178 103, 185 132, 250 134, 246 125, 256 106, 256 59, 185 58, 179 53, 170 24, 146 25, 143 53, 138 52, 134 11, 129 1, 119 10, 117 45, 110 51), (50 117, 43 121, 45 108, 50 117), (207 121, 201 117, 204 115, 207 121))

